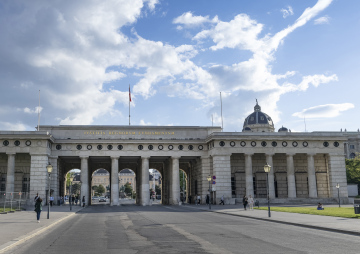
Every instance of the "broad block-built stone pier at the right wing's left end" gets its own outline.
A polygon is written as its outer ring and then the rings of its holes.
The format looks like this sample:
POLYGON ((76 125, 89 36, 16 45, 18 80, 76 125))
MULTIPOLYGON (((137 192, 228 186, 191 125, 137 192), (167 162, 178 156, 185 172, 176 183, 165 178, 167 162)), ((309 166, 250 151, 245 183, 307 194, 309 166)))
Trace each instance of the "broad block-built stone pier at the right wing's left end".
MULTIPOLYGON (((224 195, 226 204, 235 204, 235 199, 231 195, 231 163, 230 155, 214 155, 213 156, 213 175, 216 176, 216 204, 220 203, 221 197, 224 195)), ((206 181, 206 190, 209 189, 207 175, 203 176, 206 181)), ((203 197, 204 198, 204 197, 203 197)))

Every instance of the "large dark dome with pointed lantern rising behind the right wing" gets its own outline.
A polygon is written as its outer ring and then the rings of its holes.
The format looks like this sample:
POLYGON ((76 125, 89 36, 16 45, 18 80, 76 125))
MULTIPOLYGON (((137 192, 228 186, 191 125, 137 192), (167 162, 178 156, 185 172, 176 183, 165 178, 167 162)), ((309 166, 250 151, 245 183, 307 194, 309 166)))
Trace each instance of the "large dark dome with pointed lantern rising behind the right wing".
POLYGON ((250 128, 253 132, 274 132, 274 123, 270 116, 261 112, 261 107, 256 100, 254 112, 245 118, 243 131, 249 131, 250 128))

